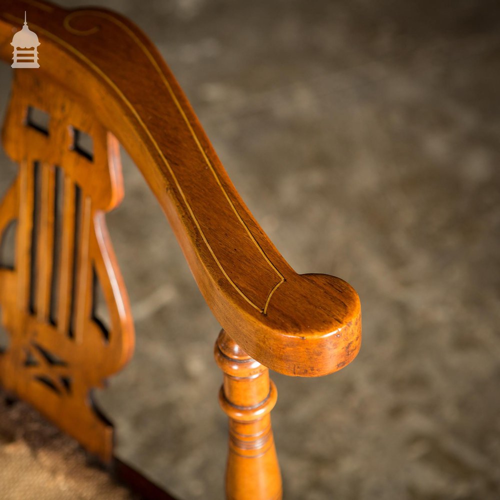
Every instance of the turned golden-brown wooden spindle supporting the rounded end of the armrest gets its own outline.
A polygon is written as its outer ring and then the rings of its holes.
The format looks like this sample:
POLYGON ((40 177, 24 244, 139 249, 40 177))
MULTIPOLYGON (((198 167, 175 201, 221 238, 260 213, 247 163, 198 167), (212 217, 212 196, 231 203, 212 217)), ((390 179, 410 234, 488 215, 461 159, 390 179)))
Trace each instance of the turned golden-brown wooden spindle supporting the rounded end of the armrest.
POLYGON ((281 473, 269 414, 277 392, 269 370, 224 330, 215 342, 215 360, 224 373, 219 402, 229 417, 226 498, 280 500, 281 473))

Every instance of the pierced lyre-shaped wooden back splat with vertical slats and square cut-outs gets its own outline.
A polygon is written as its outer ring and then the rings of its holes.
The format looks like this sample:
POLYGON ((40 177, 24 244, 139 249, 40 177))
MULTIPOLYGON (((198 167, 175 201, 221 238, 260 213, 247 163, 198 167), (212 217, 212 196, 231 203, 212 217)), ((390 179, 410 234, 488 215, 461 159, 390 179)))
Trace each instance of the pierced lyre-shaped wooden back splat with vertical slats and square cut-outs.
POLYGON ((133 349, 125 287, 104 212, 122 198, 115 137, 43 76, 17 71, 3 145, 19 173, 0 204, 0 235, 16 222, 13 266, 0 269, 0 383, 103 460, 112 427, 90 390, 133 349), (96 316, 100 286, 109 325, 96 316))

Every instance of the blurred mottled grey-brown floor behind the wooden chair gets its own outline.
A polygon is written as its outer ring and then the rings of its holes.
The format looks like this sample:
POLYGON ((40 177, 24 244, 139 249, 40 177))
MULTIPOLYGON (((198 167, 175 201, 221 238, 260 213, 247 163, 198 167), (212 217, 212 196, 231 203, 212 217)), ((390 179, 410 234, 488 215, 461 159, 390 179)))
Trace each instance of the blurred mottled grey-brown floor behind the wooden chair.
MULTIPOLYGON (((94 3, 157 44, 295 270, 361 297, 353 363, 273 374, 284 498, 500 498, 498 2, 94 3)), ((11 69, 0 76, 4 102, 11 69)), ((5 189, 15 168, 2 165, 5 189)), ((126 154, 123 166, 107 220, 137 347, 97 398, 120 457, 185 500, 221 498, 219 326, 126 154)))

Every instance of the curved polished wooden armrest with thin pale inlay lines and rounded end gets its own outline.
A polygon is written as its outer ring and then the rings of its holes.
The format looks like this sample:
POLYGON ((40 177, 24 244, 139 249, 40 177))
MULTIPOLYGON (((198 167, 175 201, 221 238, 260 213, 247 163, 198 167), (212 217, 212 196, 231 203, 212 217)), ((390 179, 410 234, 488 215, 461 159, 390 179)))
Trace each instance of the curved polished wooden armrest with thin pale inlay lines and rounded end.
POLYGON ((254 359, 287 375, 324 375, 349 363, 360 346, 356 292, 339 278, 291 269, 239 197, 147 37, 104 9, 4 0, 6 62, 24 10, 40 40, 40 68, 29 70, 99 110, 161 204, 224 330, 254 359))

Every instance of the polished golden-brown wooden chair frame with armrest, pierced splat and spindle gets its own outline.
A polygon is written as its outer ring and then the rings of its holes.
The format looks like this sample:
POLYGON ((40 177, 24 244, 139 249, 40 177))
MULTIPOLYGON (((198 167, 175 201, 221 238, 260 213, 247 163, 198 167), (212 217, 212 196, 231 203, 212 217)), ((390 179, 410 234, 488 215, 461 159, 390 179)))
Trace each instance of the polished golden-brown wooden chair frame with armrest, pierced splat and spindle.
POLYGON ((349 363, 361 341, 356 292, 340 278, 291 269, 234 189, 157 50, 129 20, 104 9, 67 11, 42 0, 3 0, 5 61, 24 10, 41 41, 40 68, 16 72, 3 132, 20 169, 0 205, 0 231, 18 219, 15 268, 0 270, 3 321, 12 336, 0 357, 1 383, 109 458, 111 428, 86 396, 123 365, 133 345, 103 215, 123 195, 119 141, 157 197, 223 327, 215 357, 224 372, 220 403, 229 416, 227 496, 280 498, 269 415, 276 391, 267 368, 319 376, 349 363), (48 135, 26 126, 28 105, 49 112, 48 135), (93 137, 93 161, 73 147, 72 127, 93 137), (42 180, 38 218, 35 161, 42 180), (64 170, 64 193, 52 322, 55 166, 64 170), (110 311, 109 338, 93 317, 94 272, 110 311))

